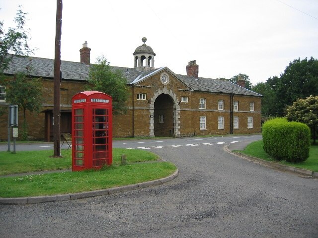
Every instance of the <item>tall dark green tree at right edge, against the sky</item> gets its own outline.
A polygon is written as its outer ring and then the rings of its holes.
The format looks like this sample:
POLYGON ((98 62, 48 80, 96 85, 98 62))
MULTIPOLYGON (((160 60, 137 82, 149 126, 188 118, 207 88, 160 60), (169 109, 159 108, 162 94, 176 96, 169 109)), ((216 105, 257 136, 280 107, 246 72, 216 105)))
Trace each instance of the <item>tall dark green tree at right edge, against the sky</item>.
MULTIPOLYGON (((296 59, 289 63, 276 82, 275 94, 282 108, 291 106, 298 98, 318 95, 318 60, 296 59)), ((279 116, 284 116, 280 110, 279 116)))

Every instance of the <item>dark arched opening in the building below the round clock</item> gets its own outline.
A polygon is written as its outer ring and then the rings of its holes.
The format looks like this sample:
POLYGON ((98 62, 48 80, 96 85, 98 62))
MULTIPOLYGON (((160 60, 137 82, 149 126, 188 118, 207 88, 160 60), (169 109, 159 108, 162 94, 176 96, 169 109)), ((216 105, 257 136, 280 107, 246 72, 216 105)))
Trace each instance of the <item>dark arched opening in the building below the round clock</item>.
POLYGON ((173 100, 168 94, 160 94, 155 101, 155 136, 173 136, 173 100))

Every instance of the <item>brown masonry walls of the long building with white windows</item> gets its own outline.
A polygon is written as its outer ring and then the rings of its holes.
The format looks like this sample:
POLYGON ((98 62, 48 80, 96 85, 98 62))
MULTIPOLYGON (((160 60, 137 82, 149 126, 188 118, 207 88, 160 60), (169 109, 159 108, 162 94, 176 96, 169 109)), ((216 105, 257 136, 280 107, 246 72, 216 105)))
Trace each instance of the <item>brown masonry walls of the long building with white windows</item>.
MULTIPOLYGON (((160 73, 140 82, 134 87, 130 87, 131 98, 127 102, 129 110, 124 115, 114 115, 113 117, 113 136, 131 137, 131 136, 149 136, 150 135, 150 105, 154 100, 154 94, 165 90, 176 97, 176 102, 171 96, 164 96, 155 104, 155 135, 169 135, 169 130, 173 130, 173 110, 178 106, 180 108, 180 134, 181 136, 192 135, 211 135, 211 134, 230 134, 230 95, 215 94, 204 92, 185 91, 187 86, 176 79, 172 74, 169 75, 170 82, 163 85, 160 82, 160 73), (145 93, 147 100, 137 100, 137 93, 145 93), (181 97, 188 97, 188 102, 183 103, 181 97), (206 109, 199 109, 200 98, 206 99, 206 109), (218 110, 218 101, 224 100, 224 110, 218 110), (179 103, 180 102, 180 103, 179 103), (158 109, 159 110, 156 110, 158 109), (159 123, 159 115, 164 115, 164 123, 159 123), (206 117, 206 129, 200 130, 200 116, 206 117), (218 117, 224 117, 224 129, 218 129, 218 117)), ((43 107, 40 111, 53 109, 53 80, 43 79, 43 107)), ((61 110, 71 110, 72 97, 85 91, 85 82, 62 81, 61 83, 61 110)), ((160 97, 159 97, 160 98, 160 97)), ((158 99, 159 99, 158 98, 158 99)), ((234 96, 234 101, 239 101, 239 110, 234 111, 234 117, 239 117, 239 129, 234 129, 234 133, 258 133, 261 131, 260 116, 260 97, 234 96), (254 111, 249 111, 250 102, 254 102, 254 111), (253 128, 247 128, 247 117, 253 117, 253 128)), ((6 108, 7 105, 0 104, 0 107, 6 108)), ((32 139, 44 139, 44 113, 27 113, 29 131, 32 139)), ((19 123, 22 122, 22 113, 19 113, 19 123)), ((19 133, 22 132, 22 126, 19 126, 19 133)), ((173 133, 173 131, 172 131, 173 133)), ((7 139, 7 114, 0 117, 0 140, 7 139)))

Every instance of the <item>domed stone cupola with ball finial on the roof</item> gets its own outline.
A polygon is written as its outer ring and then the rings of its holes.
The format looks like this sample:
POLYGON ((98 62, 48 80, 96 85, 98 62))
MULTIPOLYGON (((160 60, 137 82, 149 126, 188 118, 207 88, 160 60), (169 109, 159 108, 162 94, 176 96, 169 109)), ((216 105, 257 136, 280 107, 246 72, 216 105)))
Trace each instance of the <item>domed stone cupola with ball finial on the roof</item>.
POLYGON ((155 68, 155 52, 146 45, 147 38, 143 37, 143 45, 136 48, 134 55, 134 68, 146 72, 155 68))

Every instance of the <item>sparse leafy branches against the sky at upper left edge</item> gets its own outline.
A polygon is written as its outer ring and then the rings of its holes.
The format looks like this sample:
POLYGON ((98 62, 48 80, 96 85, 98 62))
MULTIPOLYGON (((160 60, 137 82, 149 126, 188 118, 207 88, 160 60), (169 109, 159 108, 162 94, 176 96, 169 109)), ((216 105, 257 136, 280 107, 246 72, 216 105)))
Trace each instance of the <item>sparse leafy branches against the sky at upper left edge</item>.
POLYGON ((7 31, 3 29, 3 21, 0 21, 0 74, 8 68, 13 57, 10 54, 28 56, 33 53, 28 45, 29 36, 23 28, 27 20, 26 15, 19 6, 14 17, 16 27, 8 28, 7 31))

